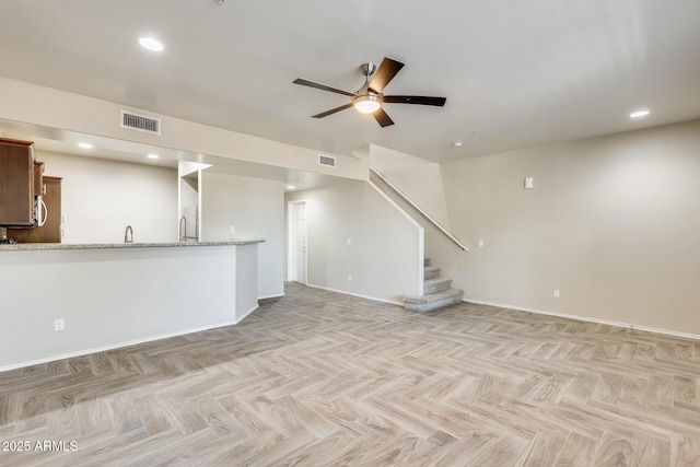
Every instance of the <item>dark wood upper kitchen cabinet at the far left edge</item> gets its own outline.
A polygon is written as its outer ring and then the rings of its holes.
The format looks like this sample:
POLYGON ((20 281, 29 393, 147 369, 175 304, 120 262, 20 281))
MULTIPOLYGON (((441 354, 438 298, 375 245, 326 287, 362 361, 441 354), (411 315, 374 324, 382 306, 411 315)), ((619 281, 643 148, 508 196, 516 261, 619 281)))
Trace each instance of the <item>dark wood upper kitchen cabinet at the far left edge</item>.
POLYGON ((34 225, 35 161, 33 142, 0 138, 0 225, 34 225))

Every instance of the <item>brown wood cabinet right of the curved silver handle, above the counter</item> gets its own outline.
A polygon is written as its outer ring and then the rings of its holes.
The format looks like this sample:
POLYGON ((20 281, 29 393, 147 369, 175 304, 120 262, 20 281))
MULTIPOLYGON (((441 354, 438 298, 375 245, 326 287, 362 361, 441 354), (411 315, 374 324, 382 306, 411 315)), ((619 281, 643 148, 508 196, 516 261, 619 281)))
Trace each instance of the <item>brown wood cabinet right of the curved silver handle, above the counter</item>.
POLYGON ((8 229, 8 237, 18 243, 61 243, 61 177, 44 176, 40 192, 46 203, 46 223, 33 229, 8 229))

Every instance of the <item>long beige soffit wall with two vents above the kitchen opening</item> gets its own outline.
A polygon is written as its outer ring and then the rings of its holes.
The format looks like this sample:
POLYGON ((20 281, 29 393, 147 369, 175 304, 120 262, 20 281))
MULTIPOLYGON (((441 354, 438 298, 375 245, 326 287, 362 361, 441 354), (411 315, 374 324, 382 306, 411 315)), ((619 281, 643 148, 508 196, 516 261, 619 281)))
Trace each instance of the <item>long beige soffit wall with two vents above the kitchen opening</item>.
MULTIPOLYGON (((116 103, 0 77, 0 133, 38 131, 47 138, 72 140, 78 133, 131 141, 168 150, 179 155, 212 156, 289 167, 338 177, 366 179, 368 161, 338 155, 336 167, 318 164, 318 151, 208 127, 116 103), (161 119, 162 133, 149 135, 119 127, 119 112, 131 110, 161 119), (27 125, 28 124, 28 125, 27 125), (180 151, 185 151, 182 153, 180 151)), ((31 139, 31 136, 30 138, 31 139)), ((107 141, 108 142, 108 141, 107 141)), ((331 155, 331 154, 329 154, 331 155)))

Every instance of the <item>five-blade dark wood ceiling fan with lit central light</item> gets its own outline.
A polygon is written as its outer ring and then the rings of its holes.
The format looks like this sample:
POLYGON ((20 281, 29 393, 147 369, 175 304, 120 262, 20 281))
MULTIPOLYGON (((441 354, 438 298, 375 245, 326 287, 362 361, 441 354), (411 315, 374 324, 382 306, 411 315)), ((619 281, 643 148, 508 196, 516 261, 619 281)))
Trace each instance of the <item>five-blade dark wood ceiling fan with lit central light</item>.
POLYGON ((442 107, 445 105, 445 97, 428 97, 422 95, 384 95, 382 91, 384 87, 396 77, 396 73, 404 68, 404 63, 393 60, 388 57, 384 57, 380 68, 376 68, 374 63, 363 63, 360 66, 362 74, 364 74, 364 85, 355 92, 348 92, 336 87, 327 86, 325 84, 314 83, 313 81, 298 78, 294 80, 295 84, 304 86, 316 87, 323 91, 330 91, 338 94, 350 96, 352 102, 340 107, 331 108, 330 110, 323 112, 317 115, 312 115, 312 118, 323 118, 335 114, 336 112, 345 110, 346 108, 354 107, 363 114, 372 114, 376 121, 382 127, 388 127, 394 125, 394 120, 384 112, 382 104, 420 104, 420 105, 434 105, 442 107), (372 81, 370 81, 372 77, 372 81))

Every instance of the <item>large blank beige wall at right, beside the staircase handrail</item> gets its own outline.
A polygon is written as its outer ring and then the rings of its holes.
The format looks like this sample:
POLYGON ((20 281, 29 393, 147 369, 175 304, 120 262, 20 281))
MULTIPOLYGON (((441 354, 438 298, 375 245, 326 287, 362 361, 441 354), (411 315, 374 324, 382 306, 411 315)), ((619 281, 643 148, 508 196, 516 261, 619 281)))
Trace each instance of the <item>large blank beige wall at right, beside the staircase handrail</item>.
POLYGON ((466 300, 700 335, 700 120, 442 173, 471 253, 439 260, 466 300))

